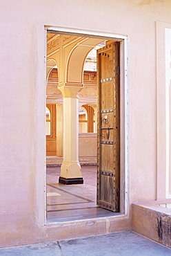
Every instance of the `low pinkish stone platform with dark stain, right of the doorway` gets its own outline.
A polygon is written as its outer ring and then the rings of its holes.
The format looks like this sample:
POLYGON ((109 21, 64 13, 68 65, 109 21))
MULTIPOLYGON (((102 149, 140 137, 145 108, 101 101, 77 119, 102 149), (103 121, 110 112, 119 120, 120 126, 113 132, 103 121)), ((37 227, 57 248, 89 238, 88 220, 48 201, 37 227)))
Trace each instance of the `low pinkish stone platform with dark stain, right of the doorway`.
POLYGON ((132 203, 132 230, 171 248, 170 201, 132 203))

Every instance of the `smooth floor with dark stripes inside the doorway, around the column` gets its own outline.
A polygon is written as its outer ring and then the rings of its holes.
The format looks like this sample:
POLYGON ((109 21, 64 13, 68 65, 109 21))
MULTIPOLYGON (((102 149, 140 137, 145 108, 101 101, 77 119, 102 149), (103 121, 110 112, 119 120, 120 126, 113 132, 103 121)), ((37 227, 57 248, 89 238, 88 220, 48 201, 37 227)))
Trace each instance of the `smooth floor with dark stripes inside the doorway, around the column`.
POLYGON ((70 221, 95 217, 119 215, 97 207, 96 165, 82 165, 83 184, 58 183, 60 167, 47 168, 47 220, 70 221))

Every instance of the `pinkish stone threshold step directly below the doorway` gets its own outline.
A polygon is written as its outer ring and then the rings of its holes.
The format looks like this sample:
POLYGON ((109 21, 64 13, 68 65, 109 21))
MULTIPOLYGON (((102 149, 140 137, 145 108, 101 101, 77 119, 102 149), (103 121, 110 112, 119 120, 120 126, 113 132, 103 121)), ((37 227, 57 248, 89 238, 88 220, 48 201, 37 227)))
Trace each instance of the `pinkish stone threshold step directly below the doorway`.
POLYGON ((50 222, 45 224, 48 237, 52 241, 75 239, 92 235, 105 235, 112 232, 131 230, 130 217, 121 214, 114 217, 97 217, 65 222, 50 222))

